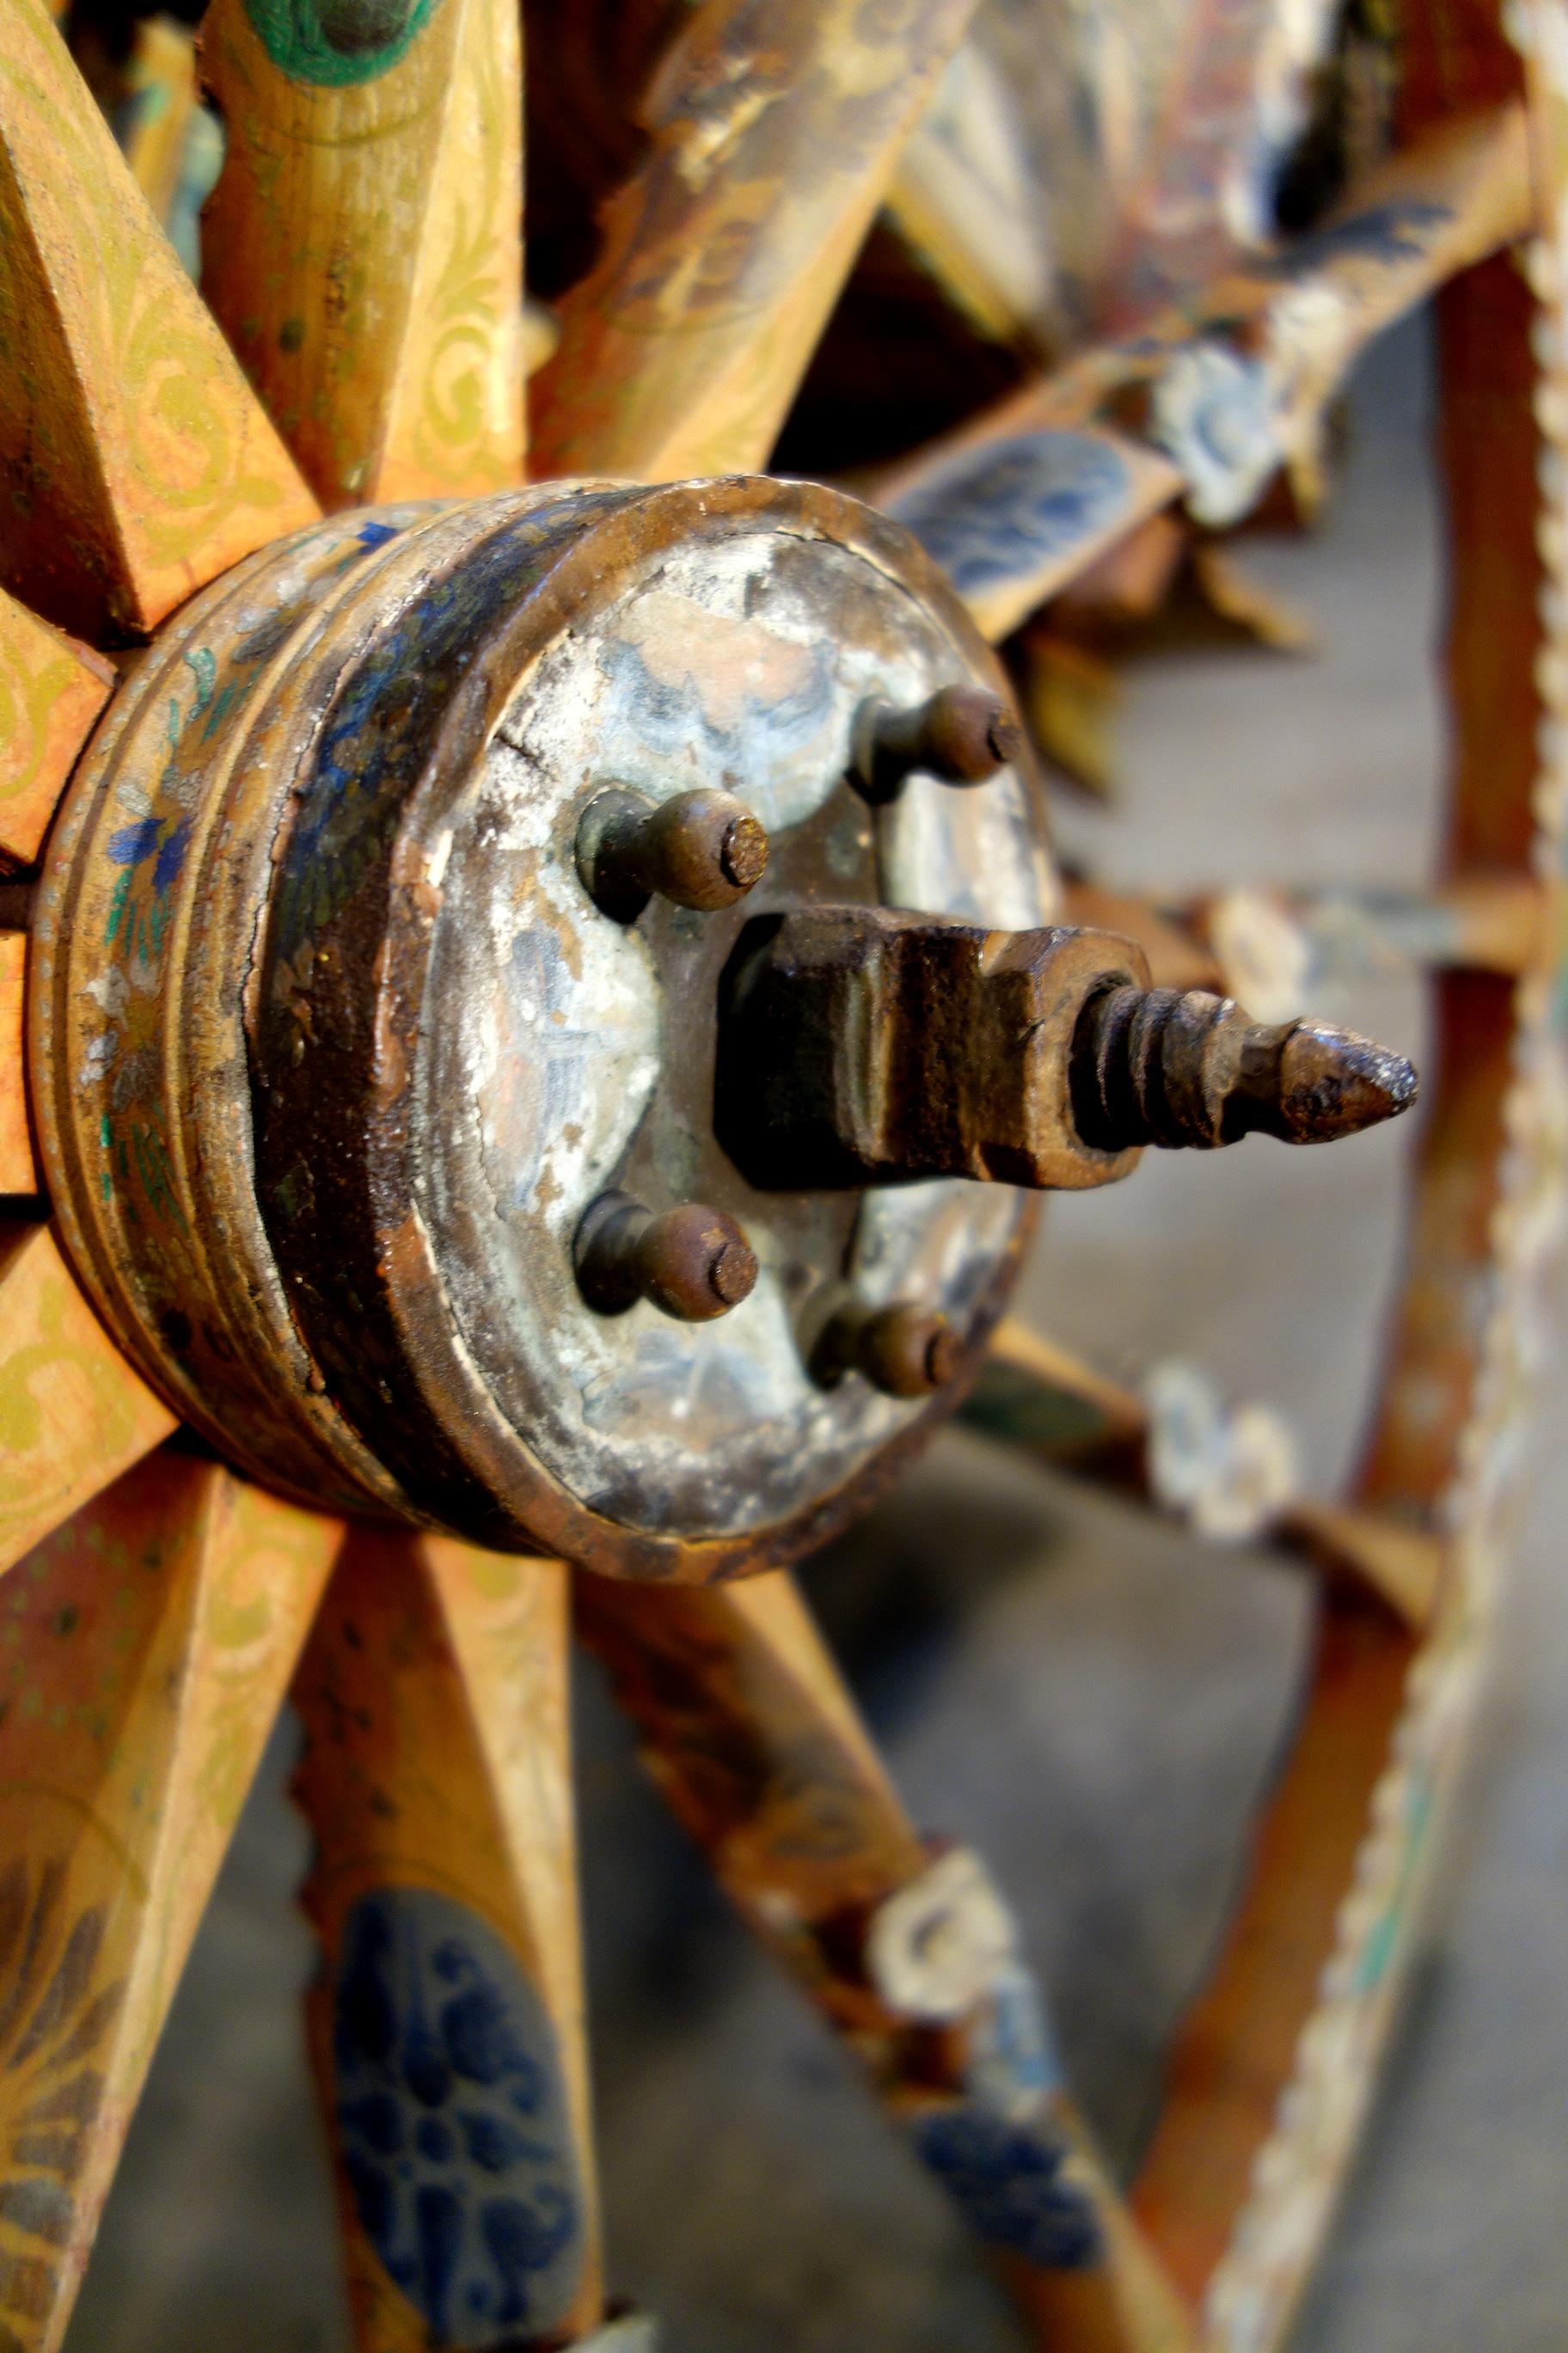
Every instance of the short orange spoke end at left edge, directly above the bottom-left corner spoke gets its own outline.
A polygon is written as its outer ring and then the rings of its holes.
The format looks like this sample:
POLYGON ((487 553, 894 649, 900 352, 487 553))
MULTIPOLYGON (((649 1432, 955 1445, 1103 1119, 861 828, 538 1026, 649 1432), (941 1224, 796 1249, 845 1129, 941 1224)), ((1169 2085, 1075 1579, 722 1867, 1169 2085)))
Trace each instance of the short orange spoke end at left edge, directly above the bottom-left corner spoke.
POLYGON ((49 1226, 0 1226, 0 1569, 169 1435, 49 1226))

